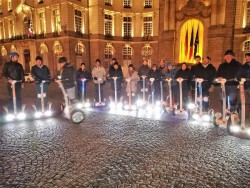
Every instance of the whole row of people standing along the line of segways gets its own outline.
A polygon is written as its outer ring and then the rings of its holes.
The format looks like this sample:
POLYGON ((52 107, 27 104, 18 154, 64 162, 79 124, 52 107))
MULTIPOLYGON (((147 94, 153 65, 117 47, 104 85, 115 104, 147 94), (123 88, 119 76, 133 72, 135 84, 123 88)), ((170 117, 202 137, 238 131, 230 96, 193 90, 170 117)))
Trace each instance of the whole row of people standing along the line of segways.
MULTIPOLYGON (((13 109, 13 97, 12 97, 12 81, 20 80, 15 84, 16 91, 16 101, 17 109, 21 109, 21 88, 24 82, 24 70, 20 63, 18 63, 19 55, 16 52, 10 53, 10 62, 5 63, 3 75, 8 80, 8 96, 9 103, 8 108, 13 109)), ((110 88, 113 93, 113 98, 115 93, 117 94, 117 99, 121 97, 122 85, 125 83, 125 79, 129 78, 130 82, 126 85, 126 93, 130 93, 132 98, 140 96, 142 92, 148 90, 149 96, 151 93, 154 94, 155 101, 159 100, 161 97, 161 87, 164 91, 164 98, 169 95, 167 87, 167 79, 171 79, 171 90, 173 96, 173 103, 178 105, 180 100, 179 82, 178 78, 182 78, 182 93, 183 93, 183 103, 184 105, 188 103, 189 96, 194 100, 195 91, 195 79, 202 78, 204 82, 202 83, 202 94, 203 96, 209 97, 210 93, 214 88, 214 79, 225 78, 231 80, 234 78, 247 78, 250 79, 250 53, 245 54, 246 62, 239 63, 235 59, 235 54, 232 50, 227 50, 224 54, 224 62, 219 65, 218 70, 212 65, 211 57, 206 56, 201 59, 200 56, 195 56, 196 63, 189 68, 187 63, 181 63, 180 68, 177 69, 171 62, 165 62, 160 60, 159 65, 153 64, 151 67, 148 65, 148 60, 143 60, 142 65, 136 71, 133 64, 128 66, 127 74, 123 74, 123 69, 121 65, 117 62, 116 58, 113 58, 110 62, 108 70, 102 66, 100 59, 96 59, 95 66, 92 72, 86 70, 85 64, 82 63, 79 70, 75 71, 73 65, 67 62, 66 57, 60 57, 58 63, 61 68, 59 78, 62 80, 63 86, 68 94, 71 102, 75 102, 77 99, 81 99, 83 95, 86 96, 86 82, 88 80, 93 80, 95 84, 95 100, 103 101, 103 86, 106 81, 110 83, 110 88), (152 79, 153 78, 153 79, 152 79), (77 83, 77 84, 75 84, 77 83), (84 84, 83 84, 84 83, 84 84), (162 84, 162 85, 161 85, 162 84), (77 96, 76 96, 77 87, 77 96), (84 92, 84 93, 82 93, 84 92), (190 94, 190 95, 189 95, 190 94)), ((31 73, 35 80, 35 88, 37 92, 37 108, 40 108, 40 98, 41 95, 44 96, 46 101, 46 93, 48 91, 48 86, 51 82, 51 75, 49 68, 43 64, 43 59, 41 56, 37 56, 35 59, 36 64, 32 67, 31 73), (43 83, 43 94, 41 94, 41 82, 43 83)), ((237 104, 237 86, 238 82, 227 82, 226 83, 226 94, 230 99, 231 110, 236 110, 237 104)), ((245 83, 246 94, 249 98, 250 96, 250 82, 245 83)), ((152 96, 151 96, 152 97, 152 96)), ((249 100, 249 99, 248 99, 249 100)), ((209 109, 209 102, 204 101, 204 110, 209 109)))

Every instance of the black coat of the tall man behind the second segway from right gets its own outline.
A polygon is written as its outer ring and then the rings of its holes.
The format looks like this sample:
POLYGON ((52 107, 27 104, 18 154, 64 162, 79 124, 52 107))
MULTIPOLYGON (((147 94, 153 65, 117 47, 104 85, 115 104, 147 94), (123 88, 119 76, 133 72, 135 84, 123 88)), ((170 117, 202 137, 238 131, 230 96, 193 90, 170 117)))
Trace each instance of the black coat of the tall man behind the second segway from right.
MULTIPOLYGON (((232 59, 230 63, 224 62, 220 64, 217 72, 218 77, 222 77, 225 79, 234 79, 236 77, 237 72, 239 71, 241 64, 232 59)), ((238 82, 226 82, 226 85, 238 85, 238 82)))

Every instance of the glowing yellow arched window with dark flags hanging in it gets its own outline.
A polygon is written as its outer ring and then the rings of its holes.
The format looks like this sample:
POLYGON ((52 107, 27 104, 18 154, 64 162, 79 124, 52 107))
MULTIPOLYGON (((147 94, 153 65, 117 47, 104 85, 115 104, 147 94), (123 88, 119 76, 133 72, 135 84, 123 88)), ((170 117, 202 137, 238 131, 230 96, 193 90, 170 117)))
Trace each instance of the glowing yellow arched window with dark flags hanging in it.
POLYGON ((186 21, 181 27, 179 62, 194 62, 194 57, 203 52, 203 24, 197 19, 186 21))

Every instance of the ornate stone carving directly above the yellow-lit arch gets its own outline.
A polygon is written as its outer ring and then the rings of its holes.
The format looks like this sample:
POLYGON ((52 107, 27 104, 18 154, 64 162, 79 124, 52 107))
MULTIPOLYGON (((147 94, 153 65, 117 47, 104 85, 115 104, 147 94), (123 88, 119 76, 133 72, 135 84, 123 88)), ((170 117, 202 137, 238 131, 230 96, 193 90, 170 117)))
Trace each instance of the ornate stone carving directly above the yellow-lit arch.
POLYGON ((211 15, 211 7, 206 6, 199 0, 189 0, 181 10, 176 12, 176 19, 181 21, 186 16, 194 15, 200 15, 203 18, 207 18, 211 15))

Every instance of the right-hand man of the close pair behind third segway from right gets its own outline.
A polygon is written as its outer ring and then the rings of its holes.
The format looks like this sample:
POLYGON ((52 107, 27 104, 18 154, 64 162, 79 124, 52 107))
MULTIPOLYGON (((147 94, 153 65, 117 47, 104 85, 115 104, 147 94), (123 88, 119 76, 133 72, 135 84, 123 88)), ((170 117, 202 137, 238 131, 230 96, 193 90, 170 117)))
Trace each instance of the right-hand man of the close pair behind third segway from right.
MULTIPOLYGON (((212 82, 216 77, 216 69, 211 64, 211 58, 209 56, 202 58, 202 63, 197 64, 195 72, 192 72, 192 78, 202 78, 202 96, 209 97, 209 93, 213 91, 212 82)), ((198 90, 199 93, 199 90, 198 90)), ((203 110, 209 109, 209 102, 203 101, 203 110)))

